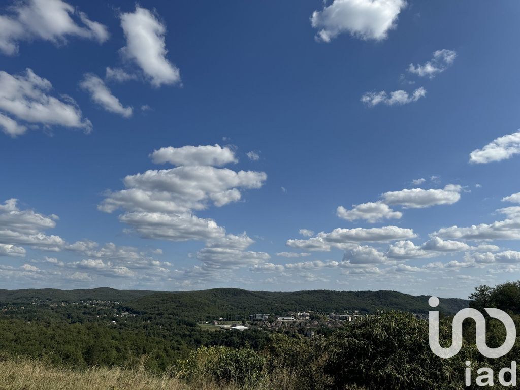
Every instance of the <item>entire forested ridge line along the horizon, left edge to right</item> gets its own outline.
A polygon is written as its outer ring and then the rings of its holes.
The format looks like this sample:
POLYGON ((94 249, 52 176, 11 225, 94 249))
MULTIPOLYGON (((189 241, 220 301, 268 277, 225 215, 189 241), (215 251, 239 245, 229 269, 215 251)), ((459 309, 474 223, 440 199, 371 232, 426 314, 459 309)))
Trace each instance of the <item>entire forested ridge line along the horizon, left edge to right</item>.
MULTIPOLYGON (((0 303, 51 303, 78 301, 115 301, 138 314, 167 315, 190 320, 208 320, 222 316, 248 318, 250 314, 285 315, 289 311, 314 311, 321 314, 359 310, 410 311, 427 314, 428 296, 413 296, 396 291, 295 291, 267 292, 240 289, 157 292, 142 290, 0 290, 0 303)), ((459 298, 441 299, 440 310, 454 314, 467 307, 469 301, 459 298)))

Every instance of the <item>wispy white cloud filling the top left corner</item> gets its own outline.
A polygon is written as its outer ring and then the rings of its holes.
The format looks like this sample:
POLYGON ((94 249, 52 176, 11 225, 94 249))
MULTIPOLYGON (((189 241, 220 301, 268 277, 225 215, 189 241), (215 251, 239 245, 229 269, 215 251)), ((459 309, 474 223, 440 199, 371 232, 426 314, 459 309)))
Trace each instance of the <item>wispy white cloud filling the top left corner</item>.
POLYGON ((109 37, 104 25, 61 0, 25 0, 8 9, 10 15, 0 15, 0 51, 7 55, 18 53, 20 41, 62 44, 77 36, 103 43, 109 37))

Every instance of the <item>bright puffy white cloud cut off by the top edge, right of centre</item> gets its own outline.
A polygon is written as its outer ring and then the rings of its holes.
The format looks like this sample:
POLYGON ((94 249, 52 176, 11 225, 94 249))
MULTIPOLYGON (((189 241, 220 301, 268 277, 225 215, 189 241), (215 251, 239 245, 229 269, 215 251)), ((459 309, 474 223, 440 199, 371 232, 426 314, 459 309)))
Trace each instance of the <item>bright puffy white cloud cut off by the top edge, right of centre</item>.
POLYGON ((396 27, 404 0, 334 0, 321 11, 314 11, 311 24, 319 29, 316 39, 330 42, 348 32, 363 40, 384 40, 396 27))

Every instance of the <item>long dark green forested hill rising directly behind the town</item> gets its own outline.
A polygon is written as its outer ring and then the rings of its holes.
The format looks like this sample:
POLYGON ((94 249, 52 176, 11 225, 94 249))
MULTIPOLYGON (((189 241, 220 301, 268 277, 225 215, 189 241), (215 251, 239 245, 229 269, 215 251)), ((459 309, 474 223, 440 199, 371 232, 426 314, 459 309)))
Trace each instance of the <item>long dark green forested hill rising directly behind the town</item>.
MULTIPOLYGON (((314 311, 322 314, 359 310, 410 311, 427 314, 426 295, 413 296, 395 291, 295 291, 267 292, 240 289, 212 289, 186 292, 158 292, 128 302, 128 309, 140 314, 170 315, 178 318, 207 320, 226 315, 247 318, 249 314, 285 315, 289 311, 314 311)), ((454 314, 468 307, 459 298, 441 299, 440 311, 454 314)))

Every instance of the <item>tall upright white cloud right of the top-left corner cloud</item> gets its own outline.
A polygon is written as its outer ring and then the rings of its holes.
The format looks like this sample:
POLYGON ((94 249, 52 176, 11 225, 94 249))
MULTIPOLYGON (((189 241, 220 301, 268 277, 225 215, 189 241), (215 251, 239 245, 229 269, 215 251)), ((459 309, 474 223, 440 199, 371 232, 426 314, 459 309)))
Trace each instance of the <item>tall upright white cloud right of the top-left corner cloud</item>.
POLYGON ((121 27, 126 37, 122 53, 142 69, 152 85, 180 82, 179 69, 166 59, 166 27, 157 17, 136 6, 134 12, 121 14, 121 27))

